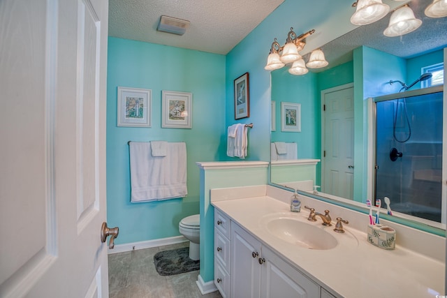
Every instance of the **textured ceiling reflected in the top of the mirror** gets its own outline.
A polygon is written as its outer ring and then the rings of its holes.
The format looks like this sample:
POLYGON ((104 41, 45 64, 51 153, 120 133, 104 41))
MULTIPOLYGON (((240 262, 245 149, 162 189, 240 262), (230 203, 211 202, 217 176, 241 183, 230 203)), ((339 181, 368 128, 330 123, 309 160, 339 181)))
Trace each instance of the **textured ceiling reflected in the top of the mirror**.
MULTIPOLYGON (((411 58, 424 52, 432 52, 447 47, 447 17, 430 18, 425 16, 425 8, 432 3, 427 0, 413 0, 409 3, 416 18, 423 21, 421 27, 411 33, 399 37, 386 37, 383 30, 388 27, 390 15, 346 33, 323 47, 326 59, 330 66, 321 68, 323 71, 329 67, 337 66, 352 60, 352 51, 360 45, 393 54, 397 57, 411 58)), ((306 57, 308 59, 308 57, 306 57)))

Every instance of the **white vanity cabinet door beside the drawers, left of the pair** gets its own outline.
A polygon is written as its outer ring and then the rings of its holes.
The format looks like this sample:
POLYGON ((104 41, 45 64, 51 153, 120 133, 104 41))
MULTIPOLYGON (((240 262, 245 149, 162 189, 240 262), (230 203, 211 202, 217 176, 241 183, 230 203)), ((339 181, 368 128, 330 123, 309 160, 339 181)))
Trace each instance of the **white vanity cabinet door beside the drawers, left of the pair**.
POLYGON ((238 225, 231 225, 231 297, 260 297, 260 251, 258 240, 238 225))

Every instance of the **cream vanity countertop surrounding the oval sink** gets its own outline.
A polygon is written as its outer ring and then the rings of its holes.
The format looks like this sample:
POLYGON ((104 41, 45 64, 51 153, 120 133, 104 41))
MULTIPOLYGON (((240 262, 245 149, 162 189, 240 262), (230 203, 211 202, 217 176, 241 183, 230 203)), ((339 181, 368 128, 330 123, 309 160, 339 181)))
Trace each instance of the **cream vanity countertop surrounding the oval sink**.
POLYGON ((332 226, 325 227, 321 225, 321 218, 316 222, 307 221, 307 209, 302 208, 295 214, 288 204, 268 196, 212 204, 323 288, 342 297, 433 298, 446 295, 444 262, 401 246, 393 251, 383 250, 369 244, 365 232, 349 225, 344 225, 344 234, 334 232, 334 214, 331 214, 332 226), (265 228, 265 219, 275 216, 293 217, 316 225, 330 232, 338 244, 329 250, 312 250, 281 241, 265 228))

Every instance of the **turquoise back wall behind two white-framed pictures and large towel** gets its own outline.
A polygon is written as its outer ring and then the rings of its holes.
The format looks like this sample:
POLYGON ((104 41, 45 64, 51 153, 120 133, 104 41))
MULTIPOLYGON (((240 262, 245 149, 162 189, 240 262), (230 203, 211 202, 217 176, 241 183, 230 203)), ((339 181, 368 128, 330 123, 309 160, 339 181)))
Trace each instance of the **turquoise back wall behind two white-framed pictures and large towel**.
POLYGON ((178 223, 199 213, 198 161, 218 161, 226 143, 223 55, 121 38, 108 40, 107 211, 119 226, 116 244, 179 235, 178 223), (117 87, 152 89, 152 127, 117 127, 117 87), (193 94, 192 129, 161 128, 161 91, 193 94), (188 195, 161 202, 130 202, 129 140, 186 142, 188 195))

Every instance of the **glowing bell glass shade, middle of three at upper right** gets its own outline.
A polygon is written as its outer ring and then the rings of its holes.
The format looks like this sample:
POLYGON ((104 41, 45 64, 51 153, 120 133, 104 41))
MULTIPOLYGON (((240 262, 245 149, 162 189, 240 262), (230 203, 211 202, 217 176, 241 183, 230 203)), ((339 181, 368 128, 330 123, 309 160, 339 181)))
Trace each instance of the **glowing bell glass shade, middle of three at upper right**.
POLYGON ((409 6, 402 6, 391 15, 390 24, 383 31, 383 35, 388 37, 401 36, 415 31, 421 24, 422 21, 414 17, 413 10, 409 6))

